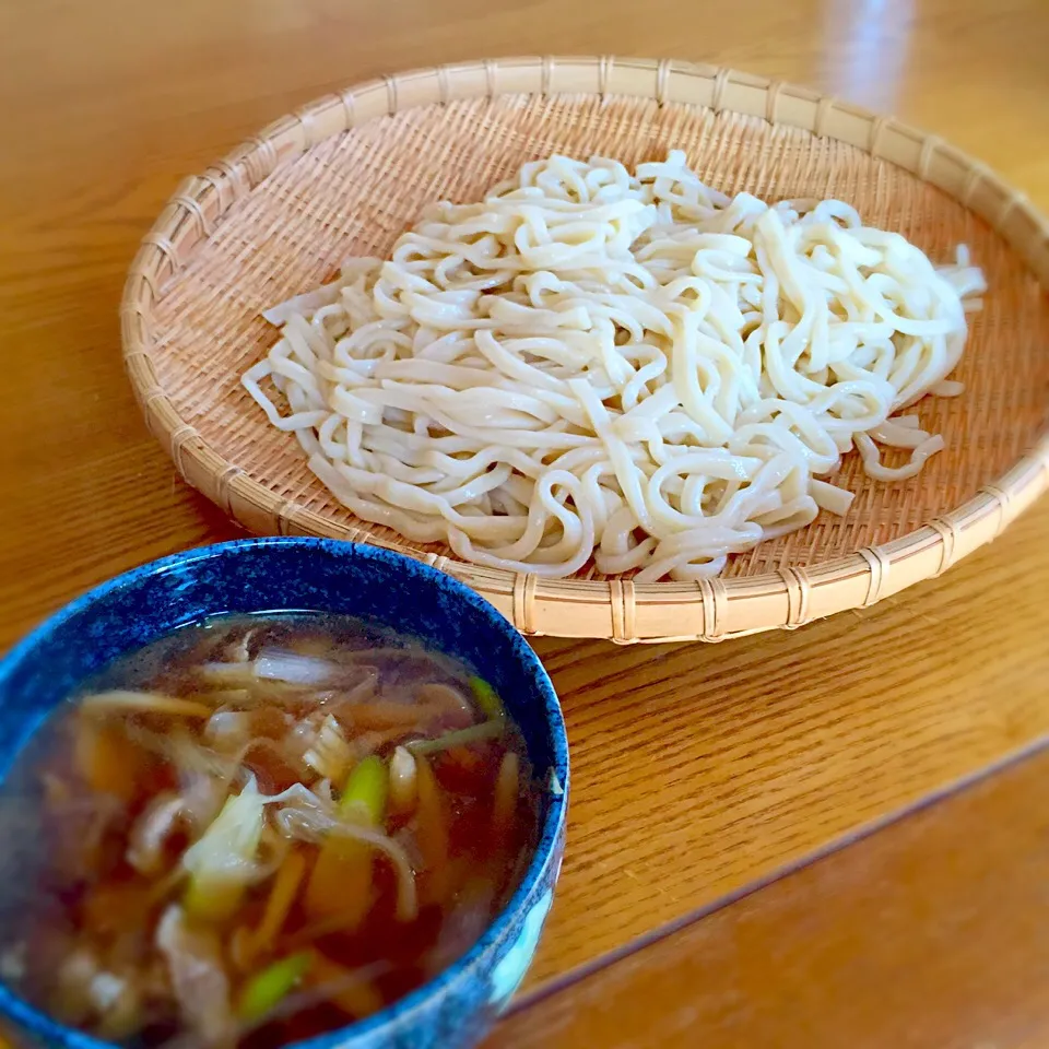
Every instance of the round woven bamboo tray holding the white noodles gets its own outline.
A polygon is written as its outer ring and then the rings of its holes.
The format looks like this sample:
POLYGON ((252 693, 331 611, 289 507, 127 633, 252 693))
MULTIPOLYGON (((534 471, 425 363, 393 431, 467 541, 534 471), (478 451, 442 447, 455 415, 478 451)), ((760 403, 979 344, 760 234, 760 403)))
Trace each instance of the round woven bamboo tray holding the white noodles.
POLYGON ((940 139, 789 84, 670 61, 522 58, 426 69, 329 95, 179 186, 144 238, 121 307, 123 353, 152 433, 189 484, 256 532, 391 546, 451 573, 527 634, 721 640, 873 604, 993 540, 1049 486, 1049 225, 940 139), (563 152, 633 166, 686 151, 705 181, 767 199, 837 196, 935 260, 967 243, 990 291, 960 398, 926 398, 945 451, 917 478, 868 479, 719 579, 635 586, 464 564, 354 518, 239 384, 276 332, 267 306, 382 255, 421 208, 471 200, 563 152))

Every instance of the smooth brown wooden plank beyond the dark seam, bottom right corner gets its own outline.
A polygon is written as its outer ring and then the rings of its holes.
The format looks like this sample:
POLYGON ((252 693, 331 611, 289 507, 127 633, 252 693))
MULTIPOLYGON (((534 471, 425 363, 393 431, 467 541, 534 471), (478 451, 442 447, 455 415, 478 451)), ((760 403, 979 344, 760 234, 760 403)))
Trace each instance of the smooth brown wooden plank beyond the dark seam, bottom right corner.
POLYGON ((544 1000, 485 1049, 1049 1045, 1041 753, 544 1000))

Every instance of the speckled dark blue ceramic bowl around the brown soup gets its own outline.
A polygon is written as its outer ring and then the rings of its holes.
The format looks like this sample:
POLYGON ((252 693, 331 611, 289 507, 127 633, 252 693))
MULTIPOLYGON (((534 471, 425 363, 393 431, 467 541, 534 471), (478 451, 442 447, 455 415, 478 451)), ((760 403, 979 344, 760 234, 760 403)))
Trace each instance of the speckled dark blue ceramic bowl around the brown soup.
MULTIPOLYGON (((453 1049, 481 1039, 531 962, 561 870, 568 744, 542 663, 486 601, 450 576, 373 546, 246 539, 143 565, 67 605, 0 662, 0 778, 48 712, 117 657, 220 612, 318 610, 414 635, 483 673, 520 726, 546 785, 524 880, 476 944, 445 973, 309 1049, 453 1049)), ((103 1049, 0 985, 0 1017, 66 1049, 103 1049)))

